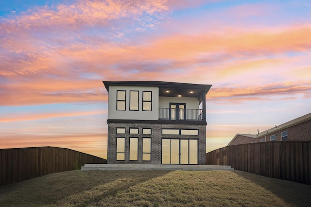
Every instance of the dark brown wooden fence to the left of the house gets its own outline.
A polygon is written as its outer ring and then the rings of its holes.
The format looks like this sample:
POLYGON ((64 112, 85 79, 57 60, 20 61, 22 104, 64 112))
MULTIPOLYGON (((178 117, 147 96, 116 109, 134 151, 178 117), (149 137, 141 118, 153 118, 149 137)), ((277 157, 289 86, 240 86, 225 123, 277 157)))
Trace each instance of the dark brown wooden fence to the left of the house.
POLYGON ((0 186, 49 173, 79 170, 85 163, 107 160, 58 147, 0 149, 0 186))

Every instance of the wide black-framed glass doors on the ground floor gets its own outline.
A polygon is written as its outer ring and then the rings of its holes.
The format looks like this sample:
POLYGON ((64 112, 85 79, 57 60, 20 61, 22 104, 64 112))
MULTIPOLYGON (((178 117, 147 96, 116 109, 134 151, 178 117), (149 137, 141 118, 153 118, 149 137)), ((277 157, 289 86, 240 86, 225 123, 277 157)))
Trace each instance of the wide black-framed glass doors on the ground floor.
POLYGON ((162 139, 162 164, 198 164, 197 139, 162 139))

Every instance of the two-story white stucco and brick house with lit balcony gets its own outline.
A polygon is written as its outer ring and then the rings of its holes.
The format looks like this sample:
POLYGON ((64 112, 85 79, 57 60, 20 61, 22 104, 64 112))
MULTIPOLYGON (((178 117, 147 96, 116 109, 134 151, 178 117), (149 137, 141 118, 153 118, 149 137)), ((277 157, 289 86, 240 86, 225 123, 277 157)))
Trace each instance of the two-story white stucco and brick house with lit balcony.
POLYGON ((108 164, 206 164, 211 85, 103 83, 108 91, 108 164))

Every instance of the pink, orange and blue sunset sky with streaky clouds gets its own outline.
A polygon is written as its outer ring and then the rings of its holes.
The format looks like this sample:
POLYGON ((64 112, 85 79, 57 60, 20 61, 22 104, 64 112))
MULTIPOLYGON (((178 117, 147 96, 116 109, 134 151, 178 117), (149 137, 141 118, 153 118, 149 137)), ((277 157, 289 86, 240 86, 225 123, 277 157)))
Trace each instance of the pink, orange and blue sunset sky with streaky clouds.
POLYGON ((311 1, 0 1, 0 148, 106 158, 103 80, 211 84, 223 147, 311 112, 311 1))

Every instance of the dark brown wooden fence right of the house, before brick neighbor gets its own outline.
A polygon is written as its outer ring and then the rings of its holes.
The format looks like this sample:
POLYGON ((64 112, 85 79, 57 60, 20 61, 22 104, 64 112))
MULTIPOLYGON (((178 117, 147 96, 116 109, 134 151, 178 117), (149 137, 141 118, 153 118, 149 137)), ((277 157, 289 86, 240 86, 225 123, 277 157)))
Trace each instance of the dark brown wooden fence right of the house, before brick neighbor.
POLYGON ((226 146, 206 154, 207 165, 311 184, 311 141, 273 141, 226 146))

